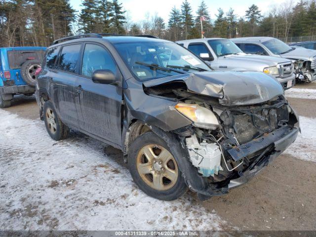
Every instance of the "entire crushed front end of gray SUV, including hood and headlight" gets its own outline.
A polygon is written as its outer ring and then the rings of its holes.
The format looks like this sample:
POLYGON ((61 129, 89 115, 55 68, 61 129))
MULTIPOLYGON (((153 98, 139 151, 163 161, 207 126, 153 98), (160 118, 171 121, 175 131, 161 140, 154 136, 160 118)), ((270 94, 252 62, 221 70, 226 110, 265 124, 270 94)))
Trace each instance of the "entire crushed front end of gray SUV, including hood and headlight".
POLYGON ((174 101, 169 110, 192 121, 171 132, 191 167, 183 171, 187 185, 200 199, 247 182, 300 130, 282 86, 263 73, 194 73, 149 81, 144 88, 148 95, 174 101))

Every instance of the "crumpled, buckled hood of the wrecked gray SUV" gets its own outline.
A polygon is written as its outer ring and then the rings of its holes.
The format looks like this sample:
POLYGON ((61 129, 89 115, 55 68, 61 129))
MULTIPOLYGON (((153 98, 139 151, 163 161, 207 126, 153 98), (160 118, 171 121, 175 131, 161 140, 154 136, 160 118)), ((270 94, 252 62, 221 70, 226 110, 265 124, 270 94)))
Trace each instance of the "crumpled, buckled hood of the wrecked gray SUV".
POLYGON ((281 84, 261 72, 213 71, 177 75, 144 82, 145 87, 184 81, 188 90, 219 99, 223 106, 263 103, 282 95, 281 84))

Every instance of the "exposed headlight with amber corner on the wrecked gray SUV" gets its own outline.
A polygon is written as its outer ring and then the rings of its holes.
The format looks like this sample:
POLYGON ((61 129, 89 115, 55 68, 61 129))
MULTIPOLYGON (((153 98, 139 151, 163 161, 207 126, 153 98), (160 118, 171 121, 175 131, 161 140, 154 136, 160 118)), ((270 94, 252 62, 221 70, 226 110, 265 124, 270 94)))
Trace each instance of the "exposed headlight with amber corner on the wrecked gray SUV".
POLYGON ((214 113, 197 104, 179 103, 175 106, 176 110, 194 122, 200 128, 216 129, 219 126, 214 113))

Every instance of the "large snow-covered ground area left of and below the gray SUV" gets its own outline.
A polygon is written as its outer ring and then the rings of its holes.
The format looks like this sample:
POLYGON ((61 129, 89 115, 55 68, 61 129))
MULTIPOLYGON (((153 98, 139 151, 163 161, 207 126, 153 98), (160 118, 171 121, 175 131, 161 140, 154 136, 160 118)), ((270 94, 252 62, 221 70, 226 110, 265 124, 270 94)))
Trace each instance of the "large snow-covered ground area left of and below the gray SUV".
POLYGON ((220 230, 192 194, 148 197, 122 154, 73 134, 55 142, 40 120, 0 110, 0 230, 220 230), (116 160, 115 158, 118 158, 116 160))

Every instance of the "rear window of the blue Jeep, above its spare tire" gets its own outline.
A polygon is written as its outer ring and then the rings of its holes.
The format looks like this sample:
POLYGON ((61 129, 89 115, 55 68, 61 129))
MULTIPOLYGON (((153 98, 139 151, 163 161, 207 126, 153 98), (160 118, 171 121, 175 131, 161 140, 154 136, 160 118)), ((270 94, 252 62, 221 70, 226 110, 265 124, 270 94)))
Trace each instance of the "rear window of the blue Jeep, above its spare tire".
POLYGON ((10 69, 19 69, 28 60, 36 59, 42 62, 44 50, 12 50, 8 51, 10 69))

